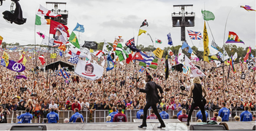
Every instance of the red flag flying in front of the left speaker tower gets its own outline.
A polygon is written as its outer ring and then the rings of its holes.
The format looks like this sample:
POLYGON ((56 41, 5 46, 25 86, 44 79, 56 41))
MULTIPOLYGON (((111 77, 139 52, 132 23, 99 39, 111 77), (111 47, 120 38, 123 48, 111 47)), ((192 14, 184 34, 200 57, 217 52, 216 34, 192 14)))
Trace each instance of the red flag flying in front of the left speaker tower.
POLYGON ((58 23, 54 20, 50 20, 50 33, 55 34, 56 28, 59 28, 59 29, 61 29, 61 31, 64 31, 65 33, 67 33, 67 37, 69 37, 69 32, 68 32, 69 28, 67 28, 66 25, 58 23))

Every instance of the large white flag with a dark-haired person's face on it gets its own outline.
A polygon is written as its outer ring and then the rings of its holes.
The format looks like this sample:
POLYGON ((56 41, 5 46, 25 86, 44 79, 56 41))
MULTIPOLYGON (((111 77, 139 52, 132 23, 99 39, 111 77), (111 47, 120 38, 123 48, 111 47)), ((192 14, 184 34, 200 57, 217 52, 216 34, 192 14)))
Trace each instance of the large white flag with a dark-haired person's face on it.
POLYGON ((84 60, 78 60, 78 64, 75 68, 75 74, 82 76, 85 79, 90 79, 92 81, 102 77, 104 68, 101 65, 94 63, 88 63, 84 60))

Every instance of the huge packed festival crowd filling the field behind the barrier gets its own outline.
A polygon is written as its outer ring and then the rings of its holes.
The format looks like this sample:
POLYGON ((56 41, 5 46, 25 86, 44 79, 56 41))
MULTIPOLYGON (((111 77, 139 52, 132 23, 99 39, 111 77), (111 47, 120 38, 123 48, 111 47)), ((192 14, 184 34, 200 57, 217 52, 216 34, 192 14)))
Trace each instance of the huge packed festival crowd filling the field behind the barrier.
MULTIPOLYGON (((18 61, 20 52, 7 52, 10 60, 18 61)), ((21 52, 22 53, 22 52, 21 52)), ((67 62, 68 57, 58 56, 56 59, 50 59, 50 55, 42 53, 45 56, 45 65, 56 60, 67 62), (49 58, 48 58, 49 57, 49 58)), ((3 51, 0 52, 0 56, 3 51)), ((120 64, 116 62, 116 68, 111 71, 104 71, 101 79, 91 81, 83 79, 72 71, 69 79, 58 76, 53 71, 49 73, 44 71, 36 71, 34 53, 25 52, 27 62, 26 70, 17 73, 0 65, 0 105, 4 111, 26 111, 33 114, 33 118, 46 118, 50 112, 50 108, 55 111, 78 111, 89 110, 110 110, 113 107, 124 110, 140 109, 146 104, 146 96, 144 93, 135 90, 135 79, 133 77, 146 76, 146 71, 139 72, 141 66, 138 61, 129 64, 120 64), (29 58, 27 56, 31 56, 29 58), (15 79, 15 76, 23 75, 27 79, 15 79), (48 83, 47 83, 48 82, 48 83)), ((42 68, 38 59, 40 52, 37 54, 37 65, 42 68)), ((101 63, 97 57, 93 60, 101 63)), ((85 58, 83 58, 85 60, 85 58)), ((162 110, 178 110, 184 108, 189 110, 192 99, 186 95, 180 95, 182 92, 188 94, 189 87, 192 85, 192 78, 185 76, 182 72, 170 69, 170 74, 165 80, 165 60, 158 60, 156 70, 149 69, 148 73, 153 76, 153 81, 159 84, 164 90, 164 98, 161 103, 157 104, 157 108, 162 110), (184 86, 186 90, 181 90, 184 86)), ((169 59, 169 63, 170 63, 169 59)), ((67 62, 68 63, 68 62, 67 62)), ((236 73, 233 73, 229 66, 216 68, 214 62, 206 63, 203 61, 193 62, 200 65, 201 70, 206 77, 201 77, 202 84, 206 87, 207 103, 206 110, 218 112, 225 103, 226 108, 230 111, 232 117, 236 116, 233 111, 244 111, 244 107, 248 107, 248 111, 255 111, 255 71, 248 69, 245 63, 235 64, 236 73), (214 68, 212 68, 214 67, 214 68), (245 79, 241 79, 241 72, 246 74, 245 79), (230 73, 228 73, 230 72, 230 73), (223 74, 225 76, 223 77, 223 74), (224 83, 223 83, 224 82, 224 83)), ((105 64, 106 68, 107 64, 105 64)), ((145 82, 141 79, 139 87, 144 88, 145 82)), ((198 108, 197 108, 198 109, 198 108)))

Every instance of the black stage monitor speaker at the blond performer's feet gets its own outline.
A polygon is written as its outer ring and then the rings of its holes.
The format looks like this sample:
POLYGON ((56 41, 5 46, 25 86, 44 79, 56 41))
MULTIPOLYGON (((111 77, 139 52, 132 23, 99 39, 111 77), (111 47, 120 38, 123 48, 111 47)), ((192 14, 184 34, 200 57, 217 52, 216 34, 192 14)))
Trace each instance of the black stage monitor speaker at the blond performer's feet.
POLYGON ((226 130, 223 125, 214 124, 192 124, 189 130, 226 130))

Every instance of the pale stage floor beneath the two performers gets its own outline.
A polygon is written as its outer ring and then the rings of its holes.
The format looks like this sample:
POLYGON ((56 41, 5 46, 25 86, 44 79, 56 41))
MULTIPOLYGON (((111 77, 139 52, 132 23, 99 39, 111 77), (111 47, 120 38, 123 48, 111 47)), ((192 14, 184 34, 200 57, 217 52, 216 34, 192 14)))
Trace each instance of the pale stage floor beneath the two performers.
MULTIPOLYGON (((185 122, 177 120, 165 120, 165 128, 157 128, 160 124, 158 120, 148 120, 147 127, 138 128, 141 124, 136 122, 111 122, 111 123, 70 123, 70 124, 0 124, 0 130, 10 130, 13 125, 46 125, 47 130, 189 130, 185 122), (149 122, 150 121, 150 122, 149 122)), ((226 122, 230 130, 252 130, 255 122, 226 122)), ((190 124, 197 124, 191 122, 190 124)))

